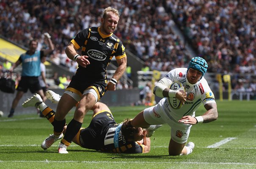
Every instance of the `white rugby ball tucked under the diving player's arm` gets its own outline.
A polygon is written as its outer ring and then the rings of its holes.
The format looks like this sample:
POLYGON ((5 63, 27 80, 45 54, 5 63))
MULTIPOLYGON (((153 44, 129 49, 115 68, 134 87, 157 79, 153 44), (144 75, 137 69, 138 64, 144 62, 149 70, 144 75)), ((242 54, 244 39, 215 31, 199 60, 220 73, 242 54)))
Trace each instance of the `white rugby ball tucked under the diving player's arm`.
MULTIPOLYGON (((184 87, 181 82, 175 81, 170 85, 170 89, 171 90, 184 90, 184 87)), ((177 99, 176 97, 169 97, 169 103, 173 109, 180 109, 182 106, 181 101, 179 99, 177 99)))

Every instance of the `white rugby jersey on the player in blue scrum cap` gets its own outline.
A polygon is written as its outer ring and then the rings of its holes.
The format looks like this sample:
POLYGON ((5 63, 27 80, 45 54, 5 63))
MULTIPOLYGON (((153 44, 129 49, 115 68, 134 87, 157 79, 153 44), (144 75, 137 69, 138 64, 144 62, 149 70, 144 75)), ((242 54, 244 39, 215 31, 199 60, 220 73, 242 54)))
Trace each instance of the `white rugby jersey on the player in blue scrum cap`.
MULTIPOLYGON (((170 82, 170 85, 174 81, 181 82, 187 93, 186 103, 180 109, 173 109, 170 106, 168 98, 163 98, 154 107, 156 113, 164 115, 174 121, 178 121, 181 117, 190 115, 195 117, 195 111, 203 103, 215 103, 214 94, 212 93, 206 79, 204 77, 200 79, 196 84, 190 84, 186 79, 187 68, 175 68, 164 77, 170 82)), ((167 87, 170 87, 167 86, 167 87)))

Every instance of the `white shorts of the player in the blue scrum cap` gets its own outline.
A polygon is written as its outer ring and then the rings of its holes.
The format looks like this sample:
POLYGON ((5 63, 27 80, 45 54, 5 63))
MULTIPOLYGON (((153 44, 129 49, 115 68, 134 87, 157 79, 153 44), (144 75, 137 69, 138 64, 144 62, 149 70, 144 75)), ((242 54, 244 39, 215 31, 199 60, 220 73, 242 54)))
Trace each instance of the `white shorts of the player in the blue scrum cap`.
MULTIPOLYGON (((159 106, 159 105, 156 105, 159 106)), ((171 138, 178 143, 185 143, 189 138, 190 128, 192 125, 179 123, 172 117, 167 117, 166 113, 158 109, 156 106, 149 107, 144 110, 144 119, 150 125, 160 125, 167 123, 171 127, 171 138)))

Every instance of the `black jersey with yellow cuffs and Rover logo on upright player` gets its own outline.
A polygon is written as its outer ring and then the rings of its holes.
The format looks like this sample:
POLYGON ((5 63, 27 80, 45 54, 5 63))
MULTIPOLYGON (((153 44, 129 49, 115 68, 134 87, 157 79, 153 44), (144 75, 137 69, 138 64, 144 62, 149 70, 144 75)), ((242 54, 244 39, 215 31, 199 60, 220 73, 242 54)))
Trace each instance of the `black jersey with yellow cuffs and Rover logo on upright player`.
POLYGON ((125 47, 116 35, 104 35, 100 27, 91 27, 79 32, 71 43, 81 49, 81 55, 88 56, 90 62, 86 68, 78 66, 76 75, 90 80, 102 80, 106 77, 107 65, 113 57, 117 60, 126 57, 125 47))

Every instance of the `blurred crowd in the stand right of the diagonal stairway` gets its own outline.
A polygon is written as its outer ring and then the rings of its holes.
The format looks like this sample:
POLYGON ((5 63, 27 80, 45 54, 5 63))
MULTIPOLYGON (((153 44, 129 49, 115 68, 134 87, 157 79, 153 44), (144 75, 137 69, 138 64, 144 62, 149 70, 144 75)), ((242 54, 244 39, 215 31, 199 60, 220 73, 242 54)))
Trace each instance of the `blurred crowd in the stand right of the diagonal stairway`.
POLYGON ((210 72, 256 74, 253 0, 169 0, 169 11, 210 72))

